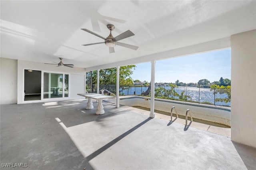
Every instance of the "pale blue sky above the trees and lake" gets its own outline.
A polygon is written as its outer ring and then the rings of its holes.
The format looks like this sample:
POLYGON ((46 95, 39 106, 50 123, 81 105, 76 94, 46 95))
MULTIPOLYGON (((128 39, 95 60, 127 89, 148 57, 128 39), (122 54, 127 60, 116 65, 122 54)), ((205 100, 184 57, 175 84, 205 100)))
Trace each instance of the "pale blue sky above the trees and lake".
MULTIPOLYGON (((133 80, 148 81, 151 77, 151 63, 136 64, 131 75, 133 80)), ((155 82, 198 83, 200 79, 210 82, 220 77, 231 79, 231 49, 175 57, 156 61, 155 82)))

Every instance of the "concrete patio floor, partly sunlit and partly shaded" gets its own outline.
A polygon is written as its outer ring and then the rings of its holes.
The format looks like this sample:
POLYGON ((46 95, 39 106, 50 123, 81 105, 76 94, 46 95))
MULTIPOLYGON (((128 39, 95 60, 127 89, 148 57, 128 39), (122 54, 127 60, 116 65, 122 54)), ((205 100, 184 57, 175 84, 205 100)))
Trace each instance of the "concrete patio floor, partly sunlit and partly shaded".
POLYGON ((256 169, 256 148, 230 137, 111 103, 95 115, 97 103, 86 110, 86 102, 1 105, 1 163, 30 170, 256 169))

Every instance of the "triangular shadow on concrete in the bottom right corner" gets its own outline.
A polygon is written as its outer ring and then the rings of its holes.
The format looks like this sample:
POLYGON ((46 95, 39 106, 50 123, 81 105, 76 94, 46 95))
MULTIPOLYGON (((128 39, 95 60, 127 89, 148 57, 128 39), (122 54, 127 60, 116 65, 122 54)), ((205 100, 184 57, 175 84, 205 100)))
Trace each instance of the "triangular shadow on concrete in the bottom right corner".
POLYGON ((256 148, 244 144, 240 144, 232 141, 234 147, 236 148, 237 153, 241 157, 244 165, 248 170, 255 170, 256 166, 256 148), (254 158, 254 159, 248 159, 254 158))

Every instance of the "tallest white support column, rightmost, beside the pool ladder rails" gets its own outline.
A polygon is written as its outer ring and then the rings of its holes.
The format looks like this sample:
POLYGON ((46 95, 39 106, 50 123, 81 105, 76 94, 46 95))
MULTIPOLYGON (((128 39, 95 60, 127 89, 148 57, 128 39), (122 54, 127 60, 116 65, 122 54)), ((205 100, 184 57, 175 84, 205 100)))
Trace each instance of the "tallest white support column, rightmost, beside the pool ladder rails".
POLYGON ((150 96, 150 115, 149 117, 154 118, 155 117, 155 66, 156 66, 156 60, 151 61, 151 96, 150 96))

